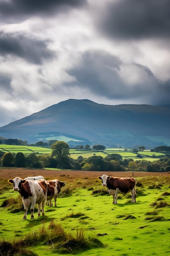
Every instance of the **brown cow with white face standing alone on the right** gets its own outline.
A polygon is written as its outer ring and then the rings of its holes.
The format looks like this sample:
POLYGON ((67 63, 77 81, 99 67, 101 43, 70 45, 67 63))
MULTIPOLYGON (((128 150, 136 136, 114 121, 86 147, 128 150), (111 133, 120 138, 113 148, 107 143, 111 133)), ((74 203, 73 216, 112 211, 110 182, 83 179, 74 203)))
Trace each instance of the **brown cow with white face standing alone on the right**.
POLYGON ((113 195, 113 204, 117 204, 117 194, 121 193, 126 195, 131 192, 132 194, 132 203, 136 202, 136 190, 135 184, 136 180, 134 178, 118 178, 118 177, 110 177, 107 175, 102 175, 98 177, 99 180, 102 180, 102 186, 106 186, 108 188, 108 193, 113 195))

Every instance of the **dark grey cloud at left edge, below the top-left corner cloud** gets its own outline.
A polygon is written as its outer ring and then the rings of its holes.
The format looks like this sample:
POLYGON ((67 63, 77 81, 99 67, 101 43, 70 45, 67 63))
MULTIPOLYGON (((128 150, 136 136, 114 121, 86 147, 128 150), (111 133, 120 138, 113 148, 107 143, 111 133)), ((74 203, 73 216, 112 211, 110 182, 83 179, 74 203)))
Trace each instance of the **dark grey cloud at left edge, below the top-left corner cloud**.
POLYGON ((52 58, 55 54, 47 49, 47 41, 27 38, 21 34, 0 34, 0 55, 14 55, 30 63, 41 64, 43 59, 52 58))

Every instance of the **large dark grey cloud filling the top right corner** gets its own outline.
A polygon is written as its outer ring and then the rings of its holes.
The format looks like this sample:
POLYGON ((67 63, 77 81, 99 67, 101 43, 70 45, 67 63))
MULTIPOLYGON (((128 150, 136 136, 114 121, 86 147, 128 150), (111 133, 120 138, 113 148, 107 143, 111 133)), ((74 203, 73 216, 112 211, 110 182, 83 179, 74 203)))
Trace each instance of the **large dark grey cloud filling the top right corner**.
POLYGON ((97 27, 110 38, 170 37, 169 0, 118 0, 99 13, 97 27))

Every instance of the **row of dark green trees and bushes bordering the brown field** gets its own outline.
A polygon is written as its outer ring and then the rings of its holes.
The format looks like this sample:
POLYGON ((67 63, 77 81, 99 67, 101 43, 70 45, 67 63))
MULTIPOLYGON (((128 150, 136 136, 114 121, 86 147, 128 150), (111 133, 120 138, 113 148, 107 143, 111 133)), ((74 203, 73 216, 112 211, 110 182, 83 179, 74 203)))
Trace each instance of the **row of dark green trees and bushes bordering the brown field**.
POLYGON ((5 153, 1 157, 1 165, 6 167, 27 167, 27 168, 66 168, 89 171, 149 171, 163 172, 170 171, 170 155, 158 159, 155 162, 139 159, 122 159, 119 154, 109 154, 106 157, 96 156, 77 159, 70 157, 69 146, 64 141, 57 141, 51 145, 52 153, 36 155, 31 153, 24 155, 19 152, 15 156, 12 153, 5 153))

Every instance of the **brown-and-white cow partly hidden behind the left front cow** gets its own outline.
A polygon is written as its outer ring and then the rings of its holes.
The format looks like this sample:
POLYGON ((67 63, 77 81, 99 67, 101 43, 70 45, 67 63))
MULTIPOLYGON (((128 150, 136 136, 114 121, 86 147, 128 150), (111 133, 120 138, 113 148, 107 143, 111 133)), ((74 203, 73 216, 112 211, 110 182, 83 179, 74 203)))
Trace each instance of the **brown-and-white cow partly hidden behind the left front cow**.
POLYGON ((50 206, 53 206, 52 204, 52 199, 54 198, 54 204, 55 207, 57 206, 56 204, 56 200, 57 200, 57 196, 61 191, 62 186, 65 186, 65 181, 62 182, 60 180, 47 180, 47 205, 49 205, 50 201, 50 206))

